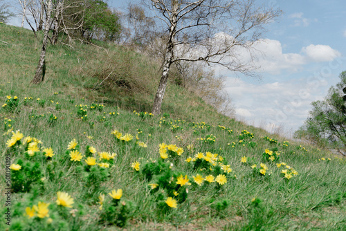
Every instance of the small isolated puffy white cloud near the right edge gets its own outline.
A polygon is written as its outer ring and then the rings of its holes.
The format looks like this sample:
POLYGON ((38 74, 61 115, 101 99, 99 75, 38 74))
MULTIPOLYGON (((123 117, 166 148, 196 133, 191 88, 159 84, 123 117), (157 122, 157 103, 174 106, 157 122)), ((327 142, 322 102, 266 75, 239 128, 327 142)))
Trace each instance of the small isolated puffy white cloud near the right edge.
POLYGON ((307 58, 312 62, 328 62, 336 57, 340 57, 341 53, 338 50, 332 49, 326 45, 309 45, 302 48, 302 53, 307 55, 307 58))

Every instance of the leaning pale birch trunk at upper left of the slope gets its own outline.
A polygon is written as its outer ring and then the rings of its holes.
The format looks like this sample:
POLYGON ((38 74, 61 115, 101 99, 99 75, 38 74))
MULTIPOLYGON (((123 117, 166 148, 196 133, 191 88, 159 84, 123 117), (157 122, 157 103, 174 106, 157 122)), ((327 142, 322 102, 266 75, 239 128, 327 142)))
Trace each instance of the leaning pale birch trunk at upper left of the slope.
POLYGON ((52 8, 52 1, 48 0, 46 23, 44 24, 43 45, 42 45, 41 55, 39 56, 39 64, 37 65, 35 77, 33 79, 33 84, 39 84, 40 82, 44 80, 46 46, 48 42, 49 28, 51 27, 51 8, 52 8))

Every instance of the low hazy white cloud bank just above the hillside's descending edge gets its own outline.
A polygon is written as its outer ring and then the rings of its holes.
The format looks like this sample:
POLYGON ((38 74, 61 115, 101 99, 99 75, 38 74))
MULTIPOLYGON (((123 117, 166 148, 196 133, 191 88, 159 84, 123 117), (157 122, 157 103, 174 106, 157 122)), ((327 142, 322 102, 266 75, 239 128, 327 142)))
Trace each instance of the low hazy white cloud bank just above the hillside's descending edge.
POLYGON ((311 102, 324 97, 324 85, 321 81, 315 86, 306 77, 271 83, 248 83, 228 77, 225 90, 233 98, 238 119, 267 131, 282 125, 296 130, 307 119, 311 102))

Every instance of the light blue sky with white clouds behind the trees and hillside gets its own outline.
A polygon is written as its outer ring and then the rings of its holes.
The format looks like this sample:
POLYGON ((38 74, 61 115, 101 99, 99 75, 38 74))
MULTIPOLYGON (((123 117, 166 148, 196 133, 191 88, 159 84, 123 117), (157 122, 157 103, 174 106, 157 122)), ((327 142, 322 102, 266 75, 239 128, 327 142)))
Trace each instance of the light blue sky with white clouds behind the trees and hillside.
MULTIPOLYGON (((123 0, 107 2, 117 10, 127 6, 123 0)), ((261 51, 256 63, 260 79, 215 71, 227 77, 225 90, 239 120, 291 136, 307 119, 311 102, 323 100, 346 71, 346 1, 259 2, 284 12, 254 45, 261 51)), ((20 19, 10 24, 19 26, 20 19)))

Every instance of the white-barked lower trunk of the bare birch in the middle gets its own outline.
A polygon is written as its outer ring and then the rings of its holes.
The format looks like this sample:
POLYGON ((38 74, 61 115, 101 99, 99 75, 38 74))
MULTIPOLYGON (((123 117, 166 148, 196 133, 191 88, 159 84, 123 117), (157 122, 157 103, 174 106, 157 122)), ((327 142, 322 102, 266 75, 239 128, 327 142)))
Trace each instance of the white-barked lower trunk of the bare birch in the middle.
POLYGON ((163 71, 161 75, 160 84, 158 84, 158 89, 156 91, 154 104, 152 106, 152 113, 158 115, 161 111, 161 104, 163 96, 165 95, 168 73, 170 72, 170 66, 172 64, 172 53, 167 53, 168 57, 165 58, 165 64, 163 66, 163 71))

